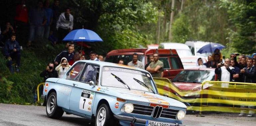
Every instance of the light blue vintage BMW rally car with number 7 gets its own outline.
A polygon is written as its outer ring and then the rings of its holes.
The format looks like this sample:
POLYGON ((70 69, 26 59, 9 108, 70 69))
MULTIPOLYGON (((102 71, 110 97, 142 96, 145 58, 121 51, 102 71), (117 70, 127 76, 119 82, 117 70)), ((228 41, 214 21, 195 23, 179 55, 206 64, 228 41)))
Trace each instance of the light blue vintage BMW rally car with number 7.
POLYGON ((50 118, 65 111, 95 126, 185 126, 186 105, 159 95, 149 72, 125 65, 77 61, 64 78, 46 80, 42 97, 50 118))

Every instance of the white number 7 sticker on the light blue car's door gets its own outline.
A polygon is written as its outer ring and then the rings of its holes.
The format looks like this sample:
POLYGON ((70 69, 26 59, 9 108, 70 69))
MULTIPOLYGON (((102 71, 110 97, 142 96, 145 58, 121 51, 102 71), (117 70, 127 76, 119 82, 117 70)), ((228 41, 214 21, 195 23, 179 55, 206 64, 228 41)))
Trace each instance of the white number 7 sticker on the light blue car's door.
POLYGON ((79 109, 84 111, 91 111, 93 95, 94 93, 91 91, 82 90, 79 101, 79 109))

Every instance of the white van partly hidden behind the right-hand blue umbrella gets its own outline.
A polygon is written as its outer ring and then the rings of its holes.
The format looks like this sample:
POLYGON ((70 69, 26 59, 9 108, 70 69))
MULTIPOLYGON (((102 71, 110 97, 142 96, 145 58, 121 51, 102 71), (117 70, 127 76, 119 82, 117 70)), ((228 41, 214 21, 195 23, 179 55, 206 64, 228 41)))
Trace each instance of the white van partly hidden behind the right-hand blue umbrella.
MULTIPOLYGON (((204 56, 207 57, 208 55, 212 55, 210 52, 207 53, 197 53, 197 51, 203 47, 204 45, 210 44, 210 42, 204 42, 204 41, 186 41, 185 43, 186 45, 189 46, 189 48, 191 49, 191 52, 193 55, 195 56, 204 56)), ((214 50, 212 50, 214 51, 214 50)))

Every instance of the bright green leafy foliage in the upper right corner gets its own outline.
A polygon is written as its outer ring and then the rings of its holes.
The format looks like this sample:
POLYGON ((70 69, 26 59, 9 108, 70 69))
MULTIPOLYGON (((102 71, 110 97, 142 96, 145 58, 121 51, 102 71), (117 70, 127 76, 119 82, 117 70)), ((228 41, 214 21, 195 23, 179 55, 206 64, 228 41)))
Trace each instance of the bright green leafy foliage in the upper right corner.
POLYGON ((229 20, 233 26, 228 29, 233 47, 244 54, 255 52, 256 2, 250 0, 221 0, 221 2, 220 6, 227 9, 229 20))

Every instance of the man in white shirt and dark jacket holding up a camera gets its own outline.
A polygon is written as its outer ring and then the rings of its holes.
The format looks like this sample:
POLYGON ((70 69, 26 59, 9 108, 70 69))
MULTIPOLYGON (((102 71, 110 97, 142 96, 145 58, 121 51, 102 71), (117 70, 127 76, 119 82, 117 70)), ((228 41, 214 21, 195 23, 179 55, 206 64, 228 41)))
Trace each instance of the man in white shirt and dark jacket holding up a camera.
MULTIPOLYGON (((225 63, 217 64, 217 68, 215 69, 215 74, 218 75, 218 79, 224 82, 230 82, 233 79, 233 75, 235 74, 234 67, 230 66, 230 59, 226 58, 225 63)), ((221 84, 222 88, 228 87, 228 84, 221 84)))

